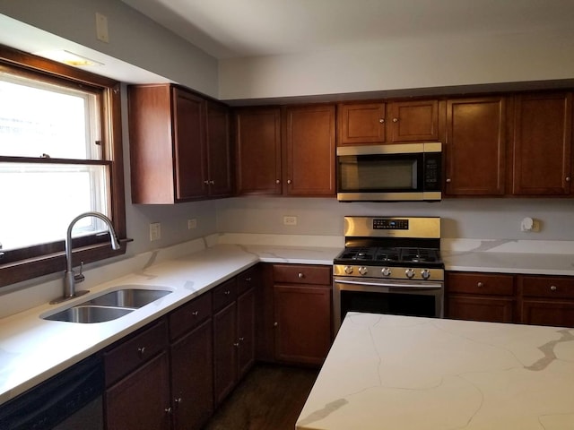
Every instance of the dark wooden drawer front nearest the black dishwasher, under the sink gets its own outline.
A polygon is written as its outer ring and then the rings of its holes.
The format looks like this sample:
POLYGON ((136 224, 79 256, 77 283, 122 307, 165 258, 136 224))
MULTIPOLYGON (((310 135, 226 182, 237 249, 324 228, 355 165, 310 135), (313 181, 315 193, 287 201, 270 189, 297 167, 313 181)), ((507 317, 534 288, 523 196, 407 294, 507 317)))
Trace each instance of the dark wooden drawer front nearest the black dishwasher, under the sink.
POLYGON ((132 372, 168 346, 168 326, 164 319, 104 353, 106 385, 132 372))

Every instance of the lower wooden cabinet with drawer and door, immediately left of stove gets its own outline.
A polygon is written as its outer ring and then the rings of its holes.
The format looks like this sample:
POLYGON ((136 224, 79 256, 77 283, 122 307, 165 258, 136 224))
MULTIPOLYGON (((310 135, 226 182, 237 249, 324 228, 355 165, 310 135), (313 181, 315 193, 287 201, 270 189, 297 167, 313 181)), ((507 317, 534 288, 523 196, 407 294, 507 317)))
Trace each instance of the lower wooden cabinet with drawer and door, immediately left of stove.
POLYGON ((322 364, 332 340, 331 267, 275 264, 273 289, 275 359, 322 364))

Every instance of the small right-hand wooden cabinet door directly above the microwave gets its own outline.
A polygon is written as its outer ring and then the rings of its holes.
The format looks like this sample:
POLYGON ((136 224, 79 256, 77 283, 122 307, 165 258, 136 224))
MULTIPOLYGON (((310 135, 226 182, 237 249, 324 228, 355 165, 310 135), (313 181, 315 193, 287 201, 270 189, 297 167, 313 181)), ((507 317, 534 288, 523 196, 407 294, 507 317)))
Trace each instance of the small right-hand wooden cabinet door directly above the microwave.
POLYGON ((396 101, 390 104, 390 142, 439 139, 439 101, 396 101))

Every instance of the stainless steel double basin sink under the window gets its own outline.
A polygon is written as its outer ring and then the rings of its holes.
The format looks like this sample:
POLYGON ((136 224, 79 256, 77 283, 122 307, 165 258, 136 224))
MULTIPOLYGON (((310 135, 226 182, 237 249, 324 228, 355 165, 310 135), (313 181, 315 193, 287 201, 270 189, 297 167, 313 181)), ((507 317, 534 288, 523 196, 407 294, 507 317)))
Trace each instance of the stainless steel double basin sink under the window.
POLYGON ((42 316, 44 320, 66 323, 104 323, 134 312, 171 293, 168 289, 144 289, 126 285, 100 296, 92 297, 56 314, 42 316))

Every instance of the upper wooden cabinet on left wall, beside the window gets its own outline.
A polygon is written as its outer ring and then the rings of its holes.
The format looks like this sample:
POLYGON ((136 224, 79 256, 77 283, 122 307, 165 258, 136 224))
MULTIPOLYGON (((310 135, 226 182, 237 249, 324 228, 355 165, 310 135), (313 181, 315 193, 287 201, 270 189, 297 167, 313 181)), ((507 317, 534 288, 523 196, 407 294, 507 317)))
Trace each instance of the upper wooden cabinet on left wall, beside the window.
POLYGON ((227 107, 173 85, 128 88, 132 202, 232 192, 227 107))

